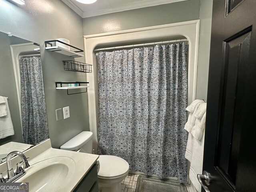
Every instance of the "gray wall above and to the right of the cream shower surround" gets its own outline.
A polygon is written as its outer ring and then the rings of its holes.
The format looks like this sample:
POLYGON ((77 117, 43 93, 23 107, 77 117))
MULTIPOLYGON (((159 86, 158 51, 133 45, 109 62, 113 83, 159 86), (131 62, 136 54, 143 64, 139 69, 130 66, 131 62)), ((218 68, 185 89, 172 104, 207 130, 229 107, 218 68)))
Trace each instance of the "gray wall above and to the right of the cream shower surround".
POLYGON ((196 98, 206 100, 212 0, 187 0, 83 19, 84 35, 200 19, 196 98))

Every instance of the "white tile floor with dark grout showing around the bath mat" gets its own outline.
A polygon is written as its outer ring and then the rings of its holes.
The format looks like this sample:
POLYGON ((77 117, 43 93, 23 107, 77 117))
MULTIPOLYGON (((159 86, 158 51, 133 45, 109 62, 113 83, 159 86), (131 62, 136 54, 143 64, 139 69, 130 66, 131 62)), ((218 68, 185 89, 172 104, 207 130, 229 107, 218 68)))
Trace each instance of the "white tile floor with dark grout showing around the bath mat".
MULTIPOLYGON (((129 173, 128 176, 121 182, 121 192, 135 192, 137 180, 138 180, 137 174, 131 174, 129 173)), ((186 185, 187 191, 192 192, 192 189, 190 186, 186 185)))

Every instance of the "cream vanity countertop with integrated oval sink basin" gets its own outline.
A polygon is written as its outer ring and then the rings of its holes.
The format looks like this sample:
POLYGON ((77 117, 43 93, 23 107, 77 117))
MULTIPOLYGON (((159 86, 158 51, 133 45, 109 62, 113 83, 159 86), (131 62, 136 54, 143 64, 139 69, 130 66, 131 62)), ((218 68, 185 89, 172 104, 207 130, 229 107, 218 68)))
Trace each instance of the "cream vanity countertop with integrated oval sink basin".
MULTIPOLYGON (((16 182, 29 182, 29 191, 71 192, 96 163, 98 155, 54 149, 50 139, 24 152, 30 167, 16 182)), ((20 158, 12 158, 12 165, 20 158)), ((12 166, 14 169, 16 166, 12 166)), ((6 163, 0 164, 0 172, 6 172, 6 163)))

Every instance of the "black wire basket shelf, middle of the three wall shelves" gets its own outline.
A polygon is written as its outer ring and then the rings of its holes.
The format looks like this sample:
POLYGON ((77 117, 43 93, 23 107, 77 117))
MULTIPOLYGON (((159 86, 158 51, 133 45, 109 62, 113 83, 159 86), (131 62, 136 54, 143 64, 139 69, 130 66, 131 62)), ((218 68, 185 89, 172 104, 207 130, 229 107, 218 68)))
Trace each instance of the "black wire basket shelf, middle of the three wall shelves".
POLYGON ((68 60, 64 62, 64 70, 65 71, 76 71, 76 72, 83 72, 83 73, 91 73, 92 72, 92 65, 86 64, 78 61, 68 60))

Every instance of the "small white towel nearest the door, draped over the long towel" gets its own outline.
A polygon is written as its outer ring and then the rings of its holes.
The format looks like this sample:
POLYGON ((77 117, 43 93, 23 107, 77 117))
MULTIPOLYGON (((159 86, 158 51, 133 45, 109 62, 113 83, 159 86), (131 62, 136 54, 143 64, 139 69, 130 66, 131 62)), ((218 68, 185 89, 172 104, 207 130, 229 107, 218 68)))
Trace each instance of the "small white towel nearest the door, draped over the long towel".
POLYGON ((198 110, 202 111, 202 109, 205 109, 202 119, 196 119, 195 125, 190 132, 194 136, 194 138, 198 140, 201 139, 204 130, 204 124, 206 120, 206 103, 200 104, 200 106, 198 107, 198 110))

